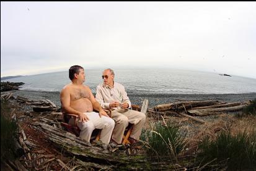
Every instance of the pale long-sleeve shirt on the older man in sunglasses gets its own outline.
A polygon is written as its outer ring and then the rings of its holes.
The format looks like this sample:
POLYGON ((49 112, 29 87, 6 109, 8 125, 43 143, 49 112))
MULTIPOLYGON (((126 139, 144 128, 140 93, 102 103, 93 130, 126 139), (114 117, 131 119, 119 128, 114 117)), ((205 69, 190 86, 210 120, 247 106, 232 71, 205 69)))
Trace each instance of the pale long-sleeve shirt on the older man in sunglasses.
POLYGON ((125 87, 117 82, 114 82, 113 88, 104 84, 98 85, 95 99, 104 109, 110 109, 109 104, 114 101, 119 103, 127 102, 129 104, 128 108, 131 108, 131 101, 127 96, 125 87))

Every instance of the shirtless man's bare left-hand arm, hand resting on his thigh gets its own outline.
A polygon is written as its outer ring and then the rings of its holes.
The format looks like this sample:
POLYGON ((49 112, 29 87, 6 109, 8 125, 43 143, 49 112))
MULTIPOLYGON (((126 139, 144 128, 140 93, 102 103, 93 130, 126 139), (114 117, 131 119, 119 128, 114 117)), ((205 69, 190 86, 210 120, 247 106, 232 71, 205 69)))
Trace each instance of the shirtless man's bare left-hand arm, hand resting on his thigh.
POLYGON ((63 88, 63 90, 61 90, 60 99, 61 106, 64 112, 68 114, 78 115, 82 122, 89 120, 89 118, 82 112, 76 111, 75 109, 70 107, 70 92, 68 88, 63 88))

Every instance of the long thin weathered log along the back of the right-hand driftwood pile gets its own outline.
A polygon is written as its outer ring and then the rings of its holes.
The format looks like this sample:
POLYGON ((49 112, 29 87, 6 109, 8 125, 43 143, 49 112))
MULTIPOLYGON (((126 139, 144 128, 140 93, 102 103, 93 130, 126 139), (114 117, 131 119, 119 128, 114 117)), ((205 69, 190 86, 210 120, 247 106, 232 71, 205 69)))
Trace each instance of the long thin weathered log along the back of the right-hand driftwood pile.
POLYGON ((214 104, 219 104, 219 101, 181 101, 181 102, 173 102, 170 104, 161 104, 153 107, 155 111, 169 111, 169 110, 183 110, 183 105, 186 109, 190 109, 195 106, 210 106, 214 104))

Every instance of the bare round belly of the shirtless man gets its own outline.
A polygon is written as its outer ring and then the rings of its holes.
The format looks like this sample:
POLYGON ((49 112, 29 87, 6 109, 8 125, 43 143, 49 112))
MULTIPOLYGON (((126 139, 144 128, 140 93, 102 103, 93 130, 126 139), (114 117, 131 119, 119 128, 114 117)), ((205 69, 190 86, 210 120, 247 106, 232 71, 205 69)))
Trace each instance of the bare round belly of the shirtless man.
POLYGON ((92 112, 93 107, 92 103, 89 101, 89 99, 78 99, 76 101, 71 101, 70 106, 80 112, 92 112))

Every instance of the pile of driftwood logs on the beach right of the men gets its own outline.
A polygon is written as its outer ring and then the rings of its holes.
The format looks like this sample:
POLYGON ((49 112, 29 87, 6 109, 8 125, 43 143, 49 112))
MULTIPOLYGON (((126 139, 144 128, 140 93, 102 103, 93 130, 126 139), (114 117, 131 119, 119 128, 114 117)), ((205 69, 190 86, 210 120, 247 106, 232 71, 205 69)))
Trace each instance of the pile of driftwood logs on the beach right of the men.
POLYGON ((236 112, 241 111, 247 103, 242 102, 219 102, 219 101, 179 101, 169 104, 161 104, 148 109, 151 115, 182 115, 189 117, 196 122, 205 123, 203 120, 196 119, 193 116, 205 116, 220 114, 223 112, 236 112))

